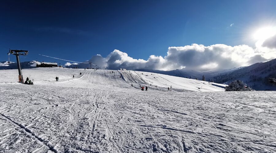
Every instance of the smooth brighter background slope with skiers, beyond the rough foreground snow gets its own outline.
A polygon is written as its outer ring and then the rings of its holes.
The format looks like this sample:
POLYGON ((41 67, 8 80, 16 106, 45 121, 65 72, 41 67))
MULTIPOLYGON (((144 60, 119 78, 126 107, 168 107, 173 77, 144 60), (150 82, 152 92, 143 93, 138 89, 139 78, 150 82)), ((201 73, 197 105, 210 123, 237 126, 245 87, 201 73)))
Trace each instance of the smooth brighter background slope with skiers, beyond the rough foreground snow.
MULTIPOLYGON (((1 70, 0 72, 0 77, 2 78, 2 80, 0 80, 0 83, 17 81, 17 70, 1 70), (8 74, 12 75, 10 77, 7 77, 9 76, 8 74)), ((144 85, 157 90, 167 90, 168 87, 172 86, 171 90, 175 91, 178 91, 178 89, 183 89, 185 91, 224 91, 225 87, 225 85, 223 84, 220 84, 222 88, 219 88, 218 86, 214 86, 206 81, 198 81, 157 73, 114 70, 114 73, 110 72, 112 72, 112 70, 98 69, 97 71, 95 71, 94 69, 84 70, 59 67, 22 69, 24 80, 29 77, 29 79, 34 80, 36 84, 43 84, 48 81, 55 81, 56 76, 59 77, 59 81, 63 81, 64 83, 66 83, 73 81, 72 77, 74 75, 74 84, 79 85, 98 84, 104 86, 129 87, 131 84, 135 84, 135 87, 137 88, 138 85, 144 85), (82 73, 82 75, 79 75, 80 73, 82 73), (122 74, 122 77, 120 73, 122 74), (142 73, 144 75, 142 75, 142 73), (150 84, 152 84, 152 86, 150 86, 150 84)))

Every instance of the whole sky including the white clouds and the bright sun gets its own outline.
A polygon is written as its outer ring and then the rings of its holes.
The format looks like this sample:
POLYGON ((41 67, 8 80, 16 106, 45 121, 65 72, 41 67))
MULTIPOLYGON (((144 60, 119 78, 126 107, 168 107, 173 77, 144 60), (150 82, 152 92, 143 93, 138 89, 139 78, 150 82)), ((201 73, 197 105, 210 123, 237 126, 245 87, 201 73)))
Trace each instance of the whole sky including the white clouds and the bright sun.
POLYGON ((247 66, 276 58, 275 6, 274 0, 2 1, 0 61, 10 48, 29 50, 21 61, 67 62, 44 54, 109 69, 247 66))

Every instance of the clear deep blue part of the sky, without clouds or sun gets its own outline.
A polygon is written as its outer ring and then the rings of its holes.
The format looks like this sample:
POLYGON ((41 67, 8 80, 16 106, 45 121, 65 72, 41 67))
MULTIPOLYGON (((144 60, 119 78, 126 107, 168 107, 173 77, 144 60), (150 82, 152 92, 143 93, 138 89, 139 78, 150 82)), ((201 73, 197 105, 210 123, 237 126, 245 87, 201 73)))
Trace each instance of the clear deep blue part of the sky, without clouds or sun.
POLYGON ((268 0, 6 1, 0 5, 0 61, 9 48, 29 50, 21 61, 62 62, 38 55, 45 54, 82 62, 114 49, 147 60, 192 43, 254 47, 252 31, 275 23, 275 6, 268 0))

